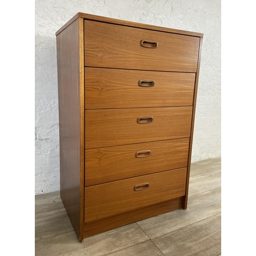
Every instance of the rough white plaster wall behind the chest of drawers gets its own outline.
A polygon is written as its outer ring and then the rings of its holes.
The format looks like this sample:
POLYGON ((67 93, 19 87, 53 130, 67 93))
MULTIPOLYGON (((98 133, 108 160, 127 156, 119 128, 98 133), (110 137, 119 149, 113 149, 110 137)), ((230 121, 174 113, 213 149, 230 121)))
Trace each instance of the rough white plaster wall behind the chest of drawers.
POLYGON ((36 0, 35 194, 59 190, 55 32, 77 12, 204 33, 192 161, 220 156, 220 0, 36 0))

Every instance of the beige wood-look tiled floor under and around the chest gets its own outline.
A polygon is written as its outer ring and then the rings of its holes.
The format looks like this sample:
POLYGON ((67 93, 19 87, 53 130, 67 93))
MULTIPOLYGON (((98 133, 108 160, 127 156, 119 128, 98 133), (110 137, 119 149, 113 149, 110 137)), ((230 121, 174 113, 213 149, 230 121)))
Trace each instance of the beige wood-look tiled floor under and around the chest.
POLYGON ((35 196, 35 255, 221 255, 221 158, 191 164, 188 207, 78 242, 59 192, 35 196))

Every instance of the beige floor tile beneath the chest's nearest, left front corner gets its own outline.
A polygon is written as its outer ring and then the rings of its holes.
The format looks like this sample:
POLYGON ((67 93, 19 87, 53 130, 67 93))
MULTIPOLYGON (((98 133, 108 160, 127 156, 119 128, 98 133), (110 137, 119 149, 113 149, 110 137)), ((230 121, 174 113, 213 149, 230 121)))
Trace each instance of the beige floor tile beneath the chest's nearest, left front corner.
POLYGON ((147 240, 149 238, 142 229, 132 223, 86 238, 82 243, 78 242, 74 232, 39 240, 35 244, 35 255, 103 256, 147 240))

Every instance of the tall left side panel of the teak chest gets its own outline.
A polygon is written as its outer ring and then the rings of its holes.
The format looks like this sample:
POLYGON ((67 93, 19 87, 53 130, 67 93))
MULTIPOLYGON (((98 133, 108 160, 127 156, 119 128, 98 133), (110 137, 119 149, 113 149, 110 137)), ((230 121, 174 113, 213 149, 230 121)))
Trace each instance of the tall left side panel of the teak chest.
POLYGON ((76 19, 70 26, 57 35, 56 40, 59 99, 60 197, 65 205, 78 239, 82 240, 81 230, 83 227, 81 226, 80 218, 83 218, 83 216, 81 216, 80 187, 81 177, 84 174, 84 159, 82 157, 84 147, 81 146, 81 141, 84 140, 84 129, 82 125, 84 121, 81 122, 81 112, 84 112, 84 107, 82 103, 83 99, 80 97, 84 88, 84 75, 83 73, 80 75, 82 56, 80 55, 81 27, 79 25, 79 19, 76 19))

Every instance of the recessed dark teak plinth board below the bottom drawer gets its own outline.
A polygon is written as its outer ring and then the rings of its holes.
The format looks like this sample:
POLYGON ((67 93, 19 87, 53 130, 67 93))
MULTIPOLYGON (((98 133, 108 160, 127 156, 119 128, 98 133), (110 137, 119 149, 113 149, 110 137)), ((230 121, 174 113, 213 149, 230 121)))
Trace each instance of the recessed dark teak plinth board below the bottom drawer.
POLYGON ((141 209, 125 212, 107 219, 84 223, 84 238, 94 236, 95 234, 140 221, 153 216, 161 215, 165 212, 173 211, 182 207, 182 197, 150 205, 141 209))

